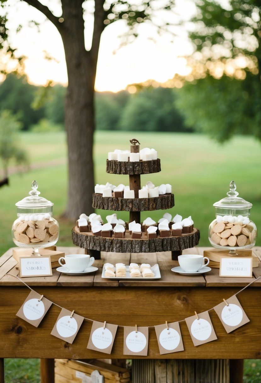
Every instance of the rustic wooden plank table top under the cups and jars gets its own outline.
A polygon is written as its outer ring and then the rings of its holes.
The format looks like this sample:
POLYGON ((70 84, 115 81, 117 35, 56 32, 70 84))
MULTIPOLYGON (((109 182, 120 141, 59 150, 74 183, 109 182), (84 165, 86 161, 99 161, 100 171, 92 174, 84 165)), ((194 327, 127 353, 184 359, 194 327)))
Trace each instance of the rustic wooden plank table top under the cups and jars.
MULTIPOLYGON (((193 247, 192 249, 183 250, 183 254, 202 254, 204 250, 210 247, 193 247)), ((65 254, 84 254, 84 249, 79 247, 57 247, 57 250, 65 254)), ((178 262, 171 260, 171 252, 163 253, 106 253, 101 252, 101 259, 95 260, 93 266, 98 267, 98 271, 86 275, 67 275, 57 272, 56 268, 52 269, 51 277, 28 277, 23 281, 29 286, 98 286, 98 287, 117 287, 117 286, 144 286, 144 287, 181 287, 181 286, 206 286, 206 287, 243 287, 251 281, 261 276, 261 247, 254 247, 253 253, 259 258, 259 266, 253 268, 252 278, 222 278, 219 277, 219 269, 212 268, 206 274, 188 276, 173 273, 171 268, 178 266, 178 262), (110 262, 123 262, 129 265, 130 262, 149 263, 151 265, 158 264, 160 267, 161 278, 158 280, 112 280, 101 277, 103 264, 110 262)), ((18 263, 12 257, 13 249, 9 249, 0 257, 0 286, 16 286, 23 285, 17 278, 20 276, 18 263), (9 275, 6 275, 6 274, 9 275)), ((261 279, 253 285, 261 286, 261 279)))

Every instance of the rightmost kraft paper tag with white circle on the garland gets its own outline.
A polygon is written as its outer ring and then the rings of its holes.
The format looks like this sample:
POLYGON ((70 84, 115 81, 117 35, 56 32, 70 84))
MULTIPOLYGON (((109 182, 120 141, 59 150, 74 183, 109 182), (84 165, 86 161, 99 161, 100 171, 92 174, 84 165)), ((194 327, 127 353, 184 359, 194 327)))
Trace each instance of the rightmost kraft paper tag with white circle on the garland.
POLYGON ((228 303, 228 306, 225 302, 222 302, 215 306, 214 310, 227 333, 250 322, 235 295, 228 298, 226 302, 228 303))

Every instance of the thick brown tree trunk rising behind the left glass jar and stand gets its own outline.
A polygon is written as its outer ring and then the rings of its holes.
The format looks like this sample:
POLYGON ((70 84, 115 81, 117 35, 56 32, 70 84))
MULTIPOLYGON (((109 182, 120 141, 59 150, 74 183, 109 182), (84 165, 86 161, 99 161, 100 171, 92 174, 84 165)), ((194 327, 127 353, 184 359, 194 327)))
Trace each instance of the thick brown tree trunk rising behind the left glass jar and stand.
POLYGON ((65 216, 77 219, 93 212, 94 82, 96 65, 85 50, 82 2, 63 2, 60 33, 68 72, 65 129, 68 143, 69 186, 65 216))

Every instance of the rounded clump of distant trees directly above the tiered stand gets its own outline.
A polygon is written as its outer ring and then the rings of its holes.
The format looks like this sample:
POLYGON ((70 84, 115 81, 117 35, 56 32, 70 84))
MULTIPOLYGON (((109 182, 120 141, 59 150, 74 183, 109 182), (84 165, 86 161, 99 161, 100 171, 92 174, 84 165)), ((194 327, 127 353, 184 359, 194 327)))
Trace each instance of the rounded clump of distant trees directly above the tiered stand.
POLYGON ((186 131, 183 119, 174 106, 170 88, 149 88, 132 95, 122 112, 123 130, 186 131))

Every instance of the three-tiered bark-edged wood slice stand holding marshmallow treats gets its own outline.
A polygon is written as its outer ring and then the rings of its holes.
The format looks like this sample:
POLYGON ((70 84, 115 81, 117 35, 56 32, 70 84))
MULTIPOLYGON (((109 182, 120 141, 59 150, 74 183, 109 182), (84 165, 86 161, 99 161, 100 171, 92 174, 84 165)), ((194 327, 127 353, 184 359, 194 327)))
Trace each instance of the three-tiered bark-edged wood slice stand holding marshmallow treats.
MULTIPOLYGON (((131 145, 130 152, 138 153, 139 145, 131 145)), ((129 175, 130 190, 134 190, 135 198, 103 197, 101 194, 93 194, 93 208, 113 211, 129 211, 130 222, 140 223, 141 211, 166 210, 173 208, 174 195, 165 194, 154 198, 139 198, 140 175, 160 172, 160 159, 137 162, 121 162, 116 160, 106 161, 106 172, 113 174, 129 175)), ((182 250, 189 249, 199 243, 199 230, 194 228, 189 234, 177 237, 157 237, 148 239, 142 233, 141 239, 132 239, 127 233, 124 238, 105 238, 94 236, 91 232, 80 232, 77 226, 72 229, 72 240, 77 246, 86 249, 86 253, 100 259, 100 252, 115 253, 150 253, 171 251, 172 259, 177 259, 182 250)))

